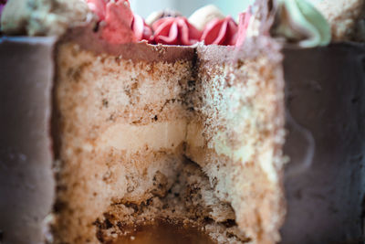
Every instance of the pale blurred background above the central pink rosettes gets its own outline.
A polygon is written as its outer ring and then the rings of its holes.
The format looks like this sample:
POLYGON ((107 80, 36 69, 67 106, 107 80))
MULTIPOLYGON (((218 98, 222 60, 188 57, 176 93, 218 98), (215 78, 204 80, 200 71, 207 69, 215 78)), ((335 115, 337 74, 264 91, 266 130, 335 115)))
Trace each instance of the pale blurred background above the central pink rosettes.
POLYGON ((254 0, 130 0, 130 6, 133 12, 144 18, 154 11, 165 8, 178 10, 183 16, 188 17, 203 5, 214 4, 221 9, 224 15, 236 17, 253 2, 254 0))

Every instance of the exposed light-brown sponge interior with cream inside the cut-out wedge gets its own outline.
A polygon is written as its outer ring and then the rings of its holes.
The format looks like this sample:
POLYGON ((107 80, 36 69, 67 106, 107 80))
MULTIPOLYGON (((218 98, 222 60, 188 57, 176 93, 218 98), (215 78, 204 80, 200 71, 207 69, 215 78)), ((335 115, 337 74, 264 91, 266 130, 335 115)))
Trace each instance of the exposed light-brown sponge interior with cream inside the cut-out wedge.
POLYGON ((111 243, 162 222, 219 243, 278 239, 276 63, 216 61, 217 50, 136 59, 58 46, 58 242, 111 243))

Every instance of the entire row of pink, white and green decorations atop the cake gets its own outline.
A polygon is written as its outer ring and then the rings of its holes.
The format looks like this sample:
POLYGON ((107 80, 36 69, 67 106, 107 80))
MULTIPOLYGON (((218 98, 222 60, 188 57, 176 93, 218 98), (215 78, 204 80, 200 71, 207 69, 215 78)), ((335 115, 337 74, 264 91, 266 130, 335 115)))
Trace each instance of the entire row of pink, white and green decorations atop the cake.
POLYGON ((128 0, 0 0, 0 31, 10 36, 61 36, 68 28, 98 23, 101 37, 114 44, 144 40, 151 44, 204 41, 207 45, 240 46, 245 38, 270 35, 258 30, 264 26, 268 30, 270 16, 276 15, 271 34, 301 48, 326 46, 331 39, 365 39, 365 0, 276 0, 266 15, 266 8, 259 6, 268 3, 256 1, 239 15, 237 25, 235 18, 225 17, 215 5, 205 5, 189 18, 165 10, 144 21, 131 12, 128 0), (157 22, 161 27, 154 33, 157 22))

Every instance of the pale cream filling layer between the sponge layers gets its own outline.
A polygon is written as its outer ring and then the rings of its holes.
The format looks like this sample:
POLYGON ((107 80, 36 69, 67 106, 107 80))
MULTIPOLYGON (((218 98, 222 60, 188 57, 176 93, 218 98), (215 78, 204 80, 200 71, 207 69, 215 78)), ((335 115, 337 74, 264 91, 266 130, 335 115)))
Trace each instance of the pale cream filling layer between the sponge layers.
MULTIPOLYGON (((254 145, 243 143, 236 149, 227 145, 227 138, 223 133, 218 133, 214 138, 214 151, 217 154, 224 154, 234 161, 245 162, 255 152, 254 145)), ((203 148, 203 128, 197 122, 186 120, 175 120, 167 122, 152 122, 147 125, 134 125, 128 123, 116 123, 102 133, 97 141, 99 150, 114 148, 125 151, 127 154, 135 154, 141 150, 148 151, 174 151, 181 143, 187 143, 193 148, 203 148)), ((273 165, 267 164, 272 158, 270 150, 263 154, 262 168, 270 180, 276 181, 273 165), (267 157, 267 158, 266 158, 267 157)), ((196 162, 201 163, 201 162, 196 162)))

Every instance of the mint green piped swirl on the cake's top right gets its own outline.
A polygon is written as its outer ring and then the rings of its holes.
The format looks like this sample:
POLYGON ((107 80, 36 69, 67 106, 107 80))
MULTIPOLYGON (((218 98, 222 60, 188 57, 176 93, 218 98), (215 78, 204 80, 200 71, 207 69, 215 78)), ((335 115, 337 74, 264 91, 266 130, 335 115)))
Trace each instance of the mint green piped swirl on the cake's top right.
POLYGON ((331 31, 327 20, 307 0, 278 0, 274 33, 297 41, 302 48, 327 46, 331 31))

